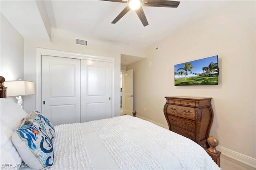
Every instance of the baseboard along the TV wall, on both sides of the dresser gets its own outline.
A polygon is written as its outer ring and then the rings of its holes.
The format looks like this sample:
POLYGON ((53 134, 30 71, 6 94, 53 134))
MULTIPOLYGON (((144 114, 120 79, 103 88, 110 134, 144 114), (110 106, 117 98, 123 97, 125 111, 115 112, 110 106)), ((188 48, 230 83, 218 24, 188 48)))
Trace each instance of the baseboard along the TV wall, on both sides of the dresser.
MULTIPOLYGON (((163 124, 158 123, 158 122, 155 122, 155 121, 152 121, 152 120, 147 119, 145 117, 142 117, 142 116, 139 116, 139 115, 136 115, 136 117, 138 117, 140 119, 144 119, 145 121, 149 121, 151 123, 154 123, 154 124, 156 124, 156 125, 158 125, 160 127, 169 129, 168 126, 163 125, 163 124)), ((225 148, 223 146, 217 146, 217 150, 220 151, 223 155, 228 156, 229 158, 232 158, 234 160, 237 160, 238 162, 242 162, 243 164, 246 164, 248 166, 252 166, 253 168, 256 168, 256 158, 252 158, 250 156, 241 154, 241 153, 236 152, 234 150, 225 148)))

